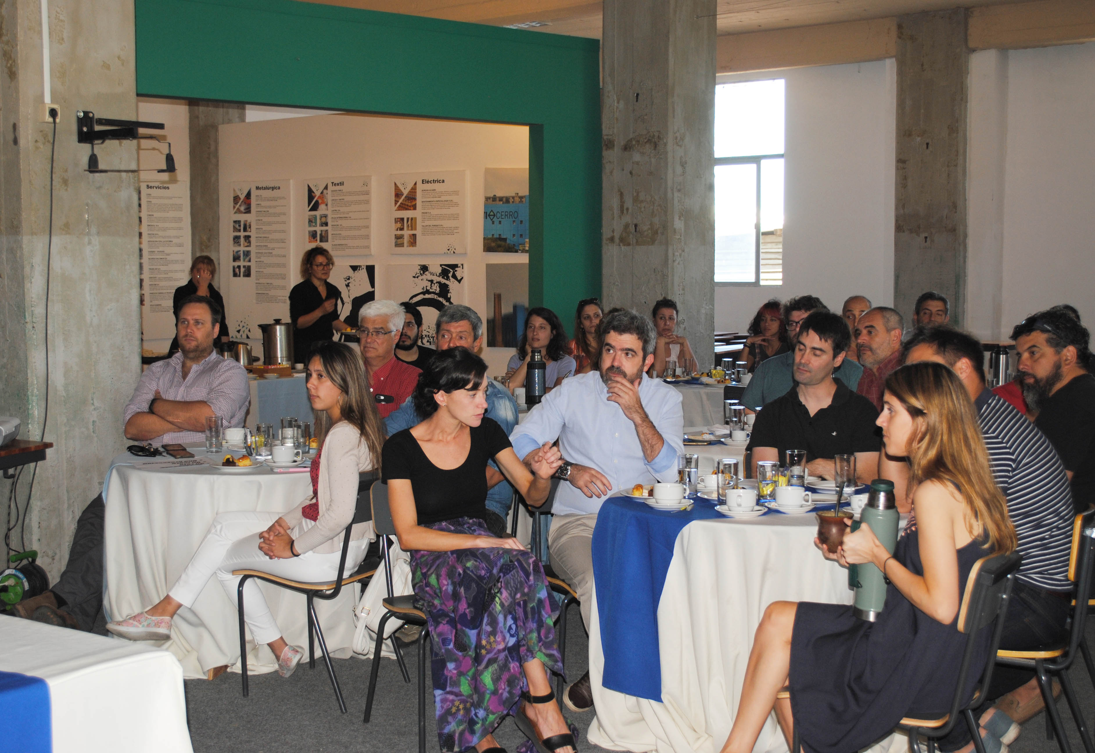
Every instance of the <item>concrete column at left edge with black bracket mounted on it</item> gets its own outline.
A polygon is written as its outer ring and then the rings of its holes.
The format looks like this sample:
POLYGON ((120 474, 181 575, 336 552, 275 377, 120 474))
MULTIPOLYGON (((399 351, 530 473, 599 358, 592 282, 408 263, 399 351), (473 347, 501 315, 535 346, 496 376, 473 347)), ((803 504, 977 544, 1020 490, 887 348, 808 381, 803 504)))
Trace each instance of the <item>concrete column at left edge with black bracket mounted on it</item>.
MULTIPOLYGON (((21 439, 41 438, 45 424, 45 439, 55 443, 37 467, 25 541, 16 530, 12 546, 38 549, 55 579, 77 517, 125 449, 122 410, 140 375, 137 175, 84 172, 90 149, 76 141, 78 109, 137 117, 134 7, 49 1, 50 99, 60 107, 51 254, 55 139, 53 125, 42 121, 38 0, 0 3, 0 413, 22 419, 21 439)), ((102 169, 137 166, 135 142, 95 151, 102 169)), ((19 484, 21 510, 32 473, 26 466, 19 484)), ((5 499, 10 484, 0 482, 5 499)))

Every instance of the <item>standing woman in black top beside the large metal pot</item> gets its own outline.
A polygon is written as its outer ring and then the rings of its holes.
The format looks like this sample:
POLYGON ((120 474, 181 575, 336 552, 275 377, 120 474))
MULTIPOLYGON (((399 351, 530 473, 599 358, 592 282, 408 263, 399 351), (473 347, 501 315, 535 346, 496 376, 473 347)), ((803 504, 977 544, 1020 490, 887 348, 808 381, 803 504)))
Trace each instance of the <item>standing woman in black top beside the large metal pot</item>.
POLYGON ((289 291, 289 318, 292 320, 292 352, 298 363, 308 362, 312 343, 330 340, 335 332, 347 329, 338 318, 342 291, 327 281, 335 257, 323 246, 313 246, 300 259, 300 278, 289 291))

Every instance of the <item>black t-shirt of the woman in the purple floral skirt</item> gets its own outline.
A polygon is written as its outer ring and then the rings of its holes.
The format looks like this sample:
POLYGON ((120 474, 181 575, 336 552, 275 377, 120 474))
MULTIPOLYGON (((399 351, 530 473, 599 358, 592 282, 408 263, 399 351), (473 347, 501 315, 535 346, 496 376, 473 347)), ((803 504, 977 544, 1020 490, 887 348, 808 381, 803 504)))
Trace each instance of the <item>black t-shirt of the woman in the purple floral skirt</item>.
POLYGON ((451 471, 429 462, 411 429, 396 431, 384 442, 384 482, 411 479, 419 525, 457 518, 486 520, 486 462, 512 445, 502 427, 485 416, 471 435, 468 457, 451 471))

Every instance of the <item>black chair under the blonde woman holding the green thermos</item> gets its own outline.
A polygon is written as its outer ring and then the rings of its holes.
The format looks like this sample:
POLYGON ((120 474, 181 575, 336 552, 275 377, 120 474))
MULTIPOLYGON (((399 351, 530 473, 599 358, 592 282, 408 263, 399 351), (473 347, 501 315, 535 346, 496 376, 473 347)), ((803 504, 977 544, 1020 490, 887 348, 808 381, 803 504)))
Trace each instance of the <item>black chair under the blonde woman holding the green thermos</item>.
MULTIPOLYGON (((973 748, 977 753, 984 753, 981 744, 980 726, 973 718, 973 709, 983 703, 983 696, 992 682, 992 670, 995 663, 986 661, 981 671, 981 679, 975 686, 970 698, 963 703, 963 688, 971 671, 977 671, 971 667, 973 653, 977 649, 981 630, 990 629, 992 637, 989 642, 989 656, 991 657, 1000 646, 1000 636, 1004 628, 1004 616, 1007 611, 1007 600, 1012 593, 1012 579, 1018 570, 1023 557, 1018 553, 1008 555, 995 555, 982 557, 977 560, 966 579, 966 592, 963 595, 961 606, 958 611, 958 630, 966 635, 966 650, 963 653, 961 664, 958 669, 958 682, 955 685, 954 699, 950 702, 950 710, 942 716, 908 716, 898 722, 897 729, 909 734, 909 750, 912 753, 920 753, 920 735, 927 738, 929 753, 935 753, 935 741, 949 734, 959 719, 965 720, 973 738, 973 748)), ((786 688, 776 694, 776 698, 789 698, 786 688)), ((791 751, 798 753, 802 745, 798 739, 798 729, 793 732, 791 751)))

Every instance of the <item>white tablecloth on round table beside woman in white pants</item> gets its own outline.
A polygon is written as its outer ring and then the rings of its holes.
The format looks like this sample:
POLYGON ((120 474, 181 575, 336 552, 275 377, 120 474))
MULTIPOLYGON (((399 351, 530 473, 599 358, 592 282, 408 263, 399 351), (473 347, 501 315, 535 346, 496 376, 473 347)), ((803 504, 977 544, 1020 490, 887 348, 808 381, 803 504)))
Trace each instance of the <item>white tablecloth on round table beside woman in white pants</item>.
MULTIPOLYGON (((195 451, 198 456, 205 453, 195 451)), ((118 465, 112 471, 106 500, 106 612, 115 619, 139 612, 162 599, 220 512, 261 510, 284 512, 311 494, 307 473, 274 473, 257 468, 226 473, 214 468, 148 470, 118 465)), ((308 646, 304 596, 260 583, 283 635, 290 644, 308 646)), ((315 611, 327 648, 334 656, 351 654, 353 600, 349 588, 334 601, 316 600, 315 611)), ((178 658, 187 677, 204 677, 240 659, 235 599, 211 578, 191 610, 175 616, 172 640, 163 644, 178 658)), ((319 648, 316 648, 319 651, 319 648)), ((265 647, 251 648, 247 668, 276 669, 265 647)))

